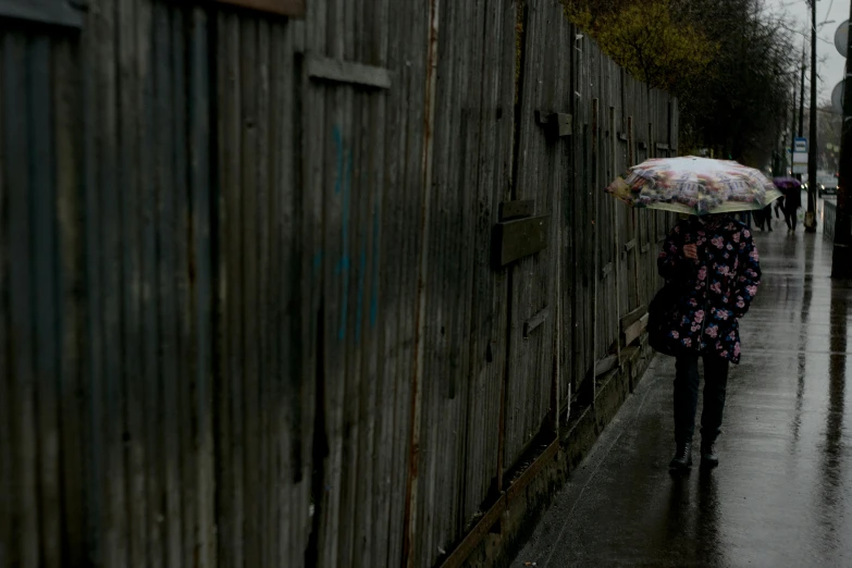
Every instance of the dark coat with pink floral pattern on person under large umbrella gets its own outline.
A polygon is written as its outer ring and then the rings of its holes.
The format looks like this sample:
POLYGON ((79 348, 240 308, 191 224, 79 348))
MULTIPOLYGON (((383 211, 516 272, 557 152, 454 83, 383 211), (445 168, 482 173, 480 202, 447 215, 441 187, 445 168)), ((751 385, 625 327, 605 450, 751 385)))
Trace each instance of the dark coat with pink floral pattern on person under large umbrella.
POLYGON ((657 267, 664 279, 682 284, 677 309, 664 324, 672 350, 692 349, 739 363, 739 320, 761 283, 751 231, 729 217, 681 221, 663 245, 657 267), (697 247, 697 262, 683 256, 689 244, 697 247))

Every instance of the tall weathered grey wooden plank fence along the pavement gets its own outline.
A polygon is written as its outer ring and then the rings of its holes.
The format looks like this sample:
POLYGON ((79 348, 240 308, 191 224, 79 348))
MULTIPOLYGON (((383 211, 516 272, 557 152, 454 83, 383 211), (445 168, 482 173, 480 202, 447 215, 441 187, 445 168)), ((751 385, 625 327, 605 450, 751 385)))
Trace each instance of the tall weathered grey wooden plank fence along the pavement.
POLYGON ((556 0, 306 4, 0 2, 0 566, 439 565, 641 331, 676 101, 556 0))

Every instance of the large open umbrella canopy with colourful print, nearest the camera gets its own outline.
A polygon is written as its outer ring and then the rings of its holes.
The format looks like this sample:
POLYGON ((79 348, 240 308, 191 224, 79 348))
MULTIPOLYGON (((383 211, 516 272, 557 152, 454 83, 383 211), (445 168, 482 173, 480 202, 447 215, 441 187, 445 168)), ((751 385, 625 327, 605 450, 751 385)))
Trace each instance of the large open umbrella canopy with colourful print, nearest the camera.
POLYGON ((756 211, 781 197, 753 168, 694 156, 646 160, 606 192, 637 208, 692 215, 756 211))

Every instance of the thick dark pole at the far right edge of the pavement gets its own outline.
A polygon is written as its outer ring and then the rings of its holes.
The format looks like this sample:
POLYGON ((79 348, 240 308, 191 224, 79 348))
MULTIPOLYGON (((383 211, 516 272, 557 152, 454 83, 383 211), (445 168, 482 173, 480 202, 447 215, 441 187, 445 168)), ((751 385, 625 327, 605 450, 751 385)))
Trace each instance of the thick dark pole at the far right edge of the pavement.
MULTIPOLYGON (((849 17, 852 22, 852 4, 849 7, 849 17)), ((831 277, 852 277, 852 34, 848 34, 847 74, 843 77, 845 91, 843 94, 843 129, 840 134, 840 180, 837 189, 837 221, 835 222, 835 250, 831 256, 831 277)))

